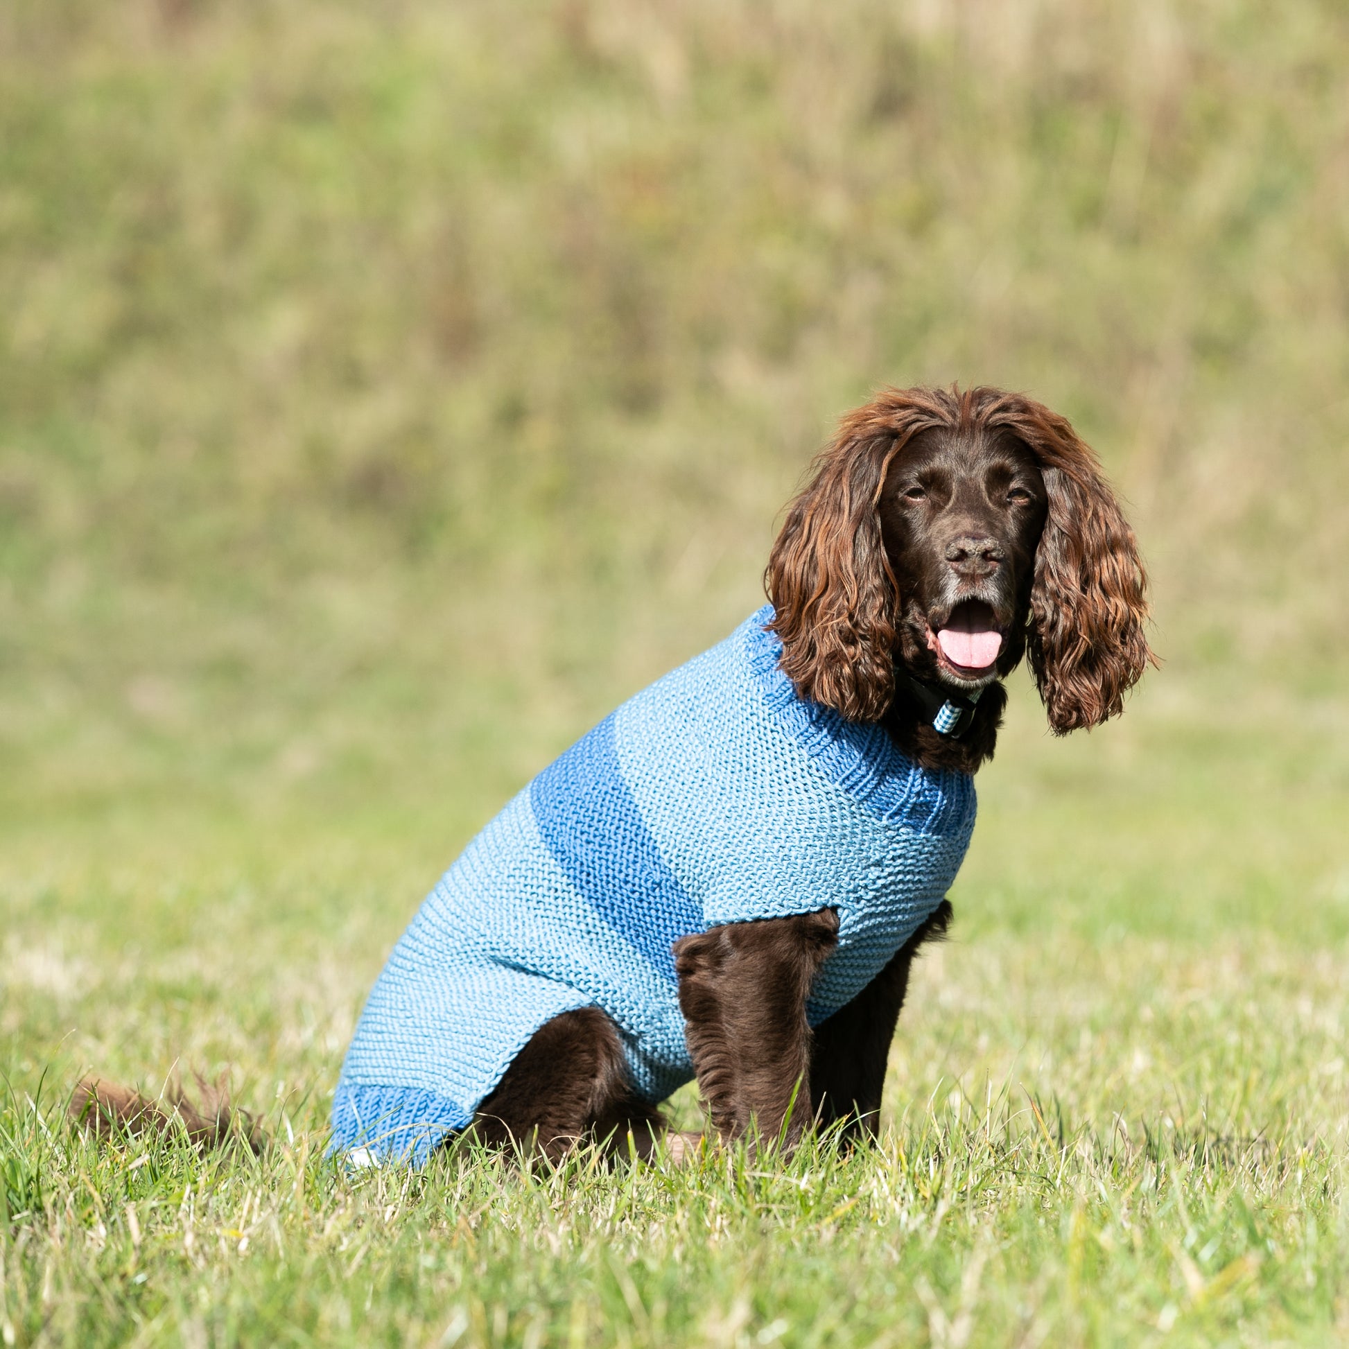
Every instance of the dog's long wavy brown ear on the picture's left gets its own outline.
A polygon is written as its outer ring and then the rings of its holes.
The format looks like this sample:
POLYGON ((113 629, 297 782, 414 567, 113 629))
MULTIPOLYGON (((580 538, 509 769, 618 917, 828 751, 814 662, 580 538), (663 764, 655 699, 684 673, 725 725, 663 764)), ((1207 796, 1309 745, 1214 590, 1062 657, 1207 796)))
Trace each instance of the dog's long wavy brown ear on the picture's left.
POLYGON ((898 595, 881 540, 892 460, 942 414, 890 390, 850 413, 791 503, 764 575, 781 669, 796 692, 853 722, 878 722, 894 692, 898 595))

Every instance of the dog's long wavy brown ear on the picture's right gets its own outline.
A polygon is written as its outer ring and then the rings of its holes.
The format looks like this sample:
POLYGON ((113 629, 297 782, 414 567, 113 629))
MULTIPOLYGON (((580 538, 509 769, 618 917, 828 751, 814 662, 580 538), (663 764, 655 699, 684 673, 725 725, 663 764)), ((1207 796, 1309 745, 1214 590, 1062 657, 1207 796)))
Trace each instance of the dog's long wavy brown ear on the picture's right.
POLYGON ((1095 455, 1063 417, 1017 398, 998 417, 1040 461, 1050 514, 1035 556, 1027 650, 1058 735, 1124 711, 1156 658, 1148 648, 1147 573, 1133 530, 1095 455))

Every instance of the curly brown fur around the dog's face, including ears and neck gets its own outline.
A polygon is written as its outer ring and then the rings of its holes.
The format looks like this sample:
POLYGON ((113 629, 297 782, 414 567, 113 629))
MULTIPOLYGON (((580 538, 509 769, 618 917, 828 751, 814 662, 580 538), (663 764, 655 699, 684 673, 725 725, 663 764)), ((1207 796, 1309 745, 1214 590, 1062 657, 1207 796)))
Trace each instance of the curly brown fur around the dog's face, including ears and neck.
POLYGON ((1001 696, 981 708, 956 746, 913 724, 912 700, 896 684, 896 662, 917 676, 939 673, 924 666, 912 641, 904 549, 886 538, 882 522, 894 514, 888 482, 935 437, 1001 444, 1037 465, 1044 523, 997 674, 1005 677, 1028 652, 1056 733, 1117 715, 1152 661, 1145 575, 1095 456, 1041 403, 982 387, 892 389, 843 418, 788 507, 765 572, 781 668, 803 697, 850 720, 884 719, 925 766, 973 770, 993 753, 1001 696))

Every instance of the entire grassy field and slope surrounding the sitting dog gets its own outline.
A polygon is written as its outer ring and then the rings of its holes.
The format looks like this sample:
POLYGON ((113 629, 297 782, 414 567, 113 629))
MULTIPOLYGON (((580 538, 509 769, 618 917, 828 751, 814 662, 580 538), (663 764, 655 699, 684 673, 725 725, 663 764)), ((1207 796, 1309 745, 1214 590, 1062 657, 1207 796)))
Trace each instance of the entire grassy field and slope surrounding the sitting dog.
POLYGON ((1314 0, 0 4, 0 1342, 1349 1340, 1345 69, 1314 0), (956 378, 1098 447, 1164 665, 1016 681, 881 1143, 325 1161, 436 876, 956 378), (65 1128, 175 1066, 271 1151, 65 1128))

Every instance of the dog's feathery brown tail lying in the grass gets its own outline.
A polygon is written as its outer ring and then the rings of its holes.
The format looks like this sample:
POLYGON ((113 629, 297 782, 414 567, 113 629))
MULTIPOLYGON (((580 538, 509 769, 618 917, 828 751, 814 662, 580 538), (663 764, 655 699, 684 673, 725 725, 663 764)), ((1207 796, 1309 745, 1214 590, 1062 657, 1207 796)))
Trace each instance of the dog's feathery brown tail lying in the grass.
POLYGON ((201 1105, 196 1105, 177 1081, 169 1083, 159 1101, 151 1101, 131 1087, 85 1078, 70 1095, 69 1114, 78 1128, 104 1140, 138 1133, 186 1135, 201 1152, 227 1143, 241 1143, 251 1152, 262 1152, 266 1136, 247 1110, 231 1102, 224 1079, 212 1086, 198 1077, 197 1089, 201 1105))

